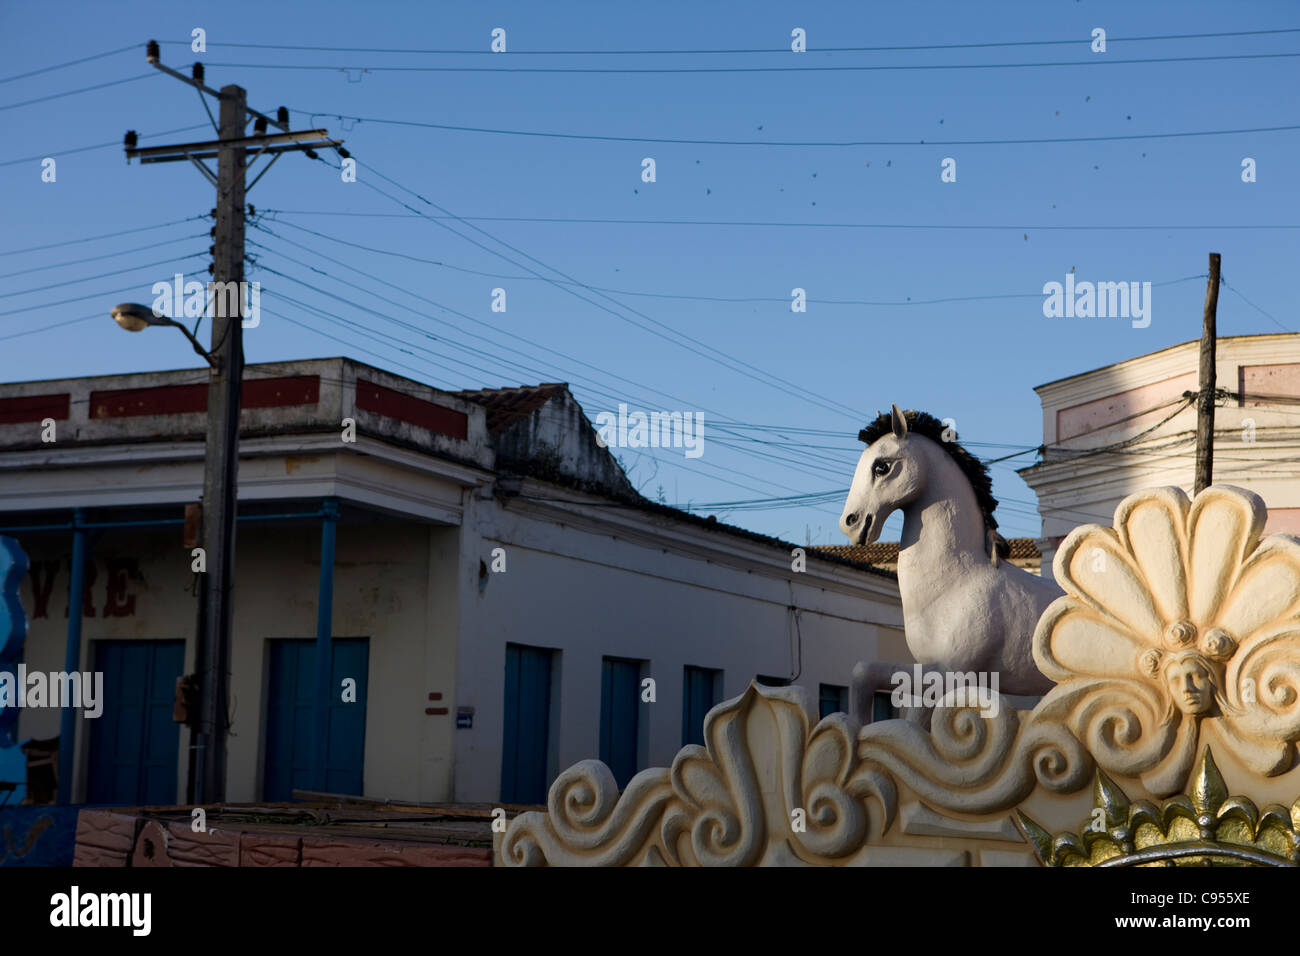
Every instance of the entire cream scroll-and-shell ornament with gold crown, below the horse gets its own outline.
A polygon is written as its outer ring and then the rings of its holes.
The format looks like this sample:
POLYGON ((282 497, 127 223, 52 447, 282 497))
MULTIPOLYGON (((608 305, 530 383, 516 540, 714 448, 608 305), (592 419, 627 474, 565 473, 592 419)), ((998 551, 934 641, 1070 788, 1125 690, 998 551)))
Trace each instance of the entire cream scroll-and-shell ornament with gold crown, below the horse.
MULTIPOLYGON (((1261 538, 1264 520, 1260 498, 1239 488, 1195 501, 1160 488, 1126 498, 1113 528, 1072 532, 1054 566, 1066 596, 1034 635, 1035 662, 1056 687, 1027 715, 996 697, 992 708, 942 702, 928 727, 859 727, 845 714, 814 722, 801 688, 751 684, 708 711, 703 747, 644 770, 621 793, 599 761, 562 773, 547 812, 519 816, 499 836, 498 861, 871 862, 900 799, 987 817, 1092 782, 1095 809, 1078 834, 1018 812, 1043 862, 1300 864, 1300 800, 1261 810, 1230 796, 1200 743, 1213 721, 1216 747, 1258 775, 1297 761, 1300 538, 1261 538), (1110 775, 1145 793, 1130 800, 1110 775)), ((931 839, 907 831, 906 817, 890 849, 931 839)))

